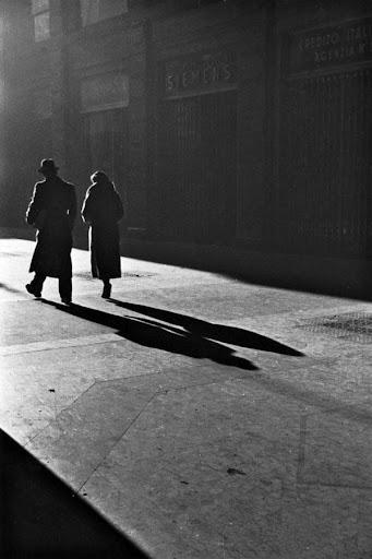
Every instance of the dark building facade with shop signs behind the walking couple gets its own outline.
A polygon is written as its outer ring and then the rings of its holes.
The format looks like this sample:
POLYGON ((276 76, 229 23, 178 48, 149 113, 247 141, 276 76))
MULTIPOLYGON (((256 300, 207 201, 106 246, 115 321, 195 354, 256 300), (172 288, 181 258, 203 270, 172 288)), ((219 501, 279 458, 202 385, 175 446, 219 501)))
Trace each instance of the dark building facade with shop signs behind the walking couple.
POLYGON ((209 257, 263 280, 351 262, 368 283, 370 2, 1 8, 4 225, 23 223, 38 160, 53 157, 81 199, 94 169, 113 178, 127 253, 209 257))

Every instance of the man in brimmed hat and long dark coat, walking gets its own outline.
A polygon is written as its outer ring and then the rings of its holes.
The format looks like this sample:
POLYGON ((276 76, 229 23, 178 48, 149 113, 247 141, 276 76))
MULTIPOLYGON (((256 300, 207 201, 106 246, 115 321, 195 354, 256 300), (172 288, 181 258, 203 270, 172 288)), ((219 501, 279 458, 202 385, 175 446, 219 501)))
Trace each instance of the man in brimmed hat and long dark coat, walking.
POLYGON ((26 289, 35 297, 40 297, 45 278, 58 277, 61 300, 70 304, 75 189, 58 176, 58 167, 52 159, 43 159, 38 170, 45 180, 36 182, 26 212, 26 222, 37 228, 37 242, 29 266, 35 277, 26 285, 26 289))

